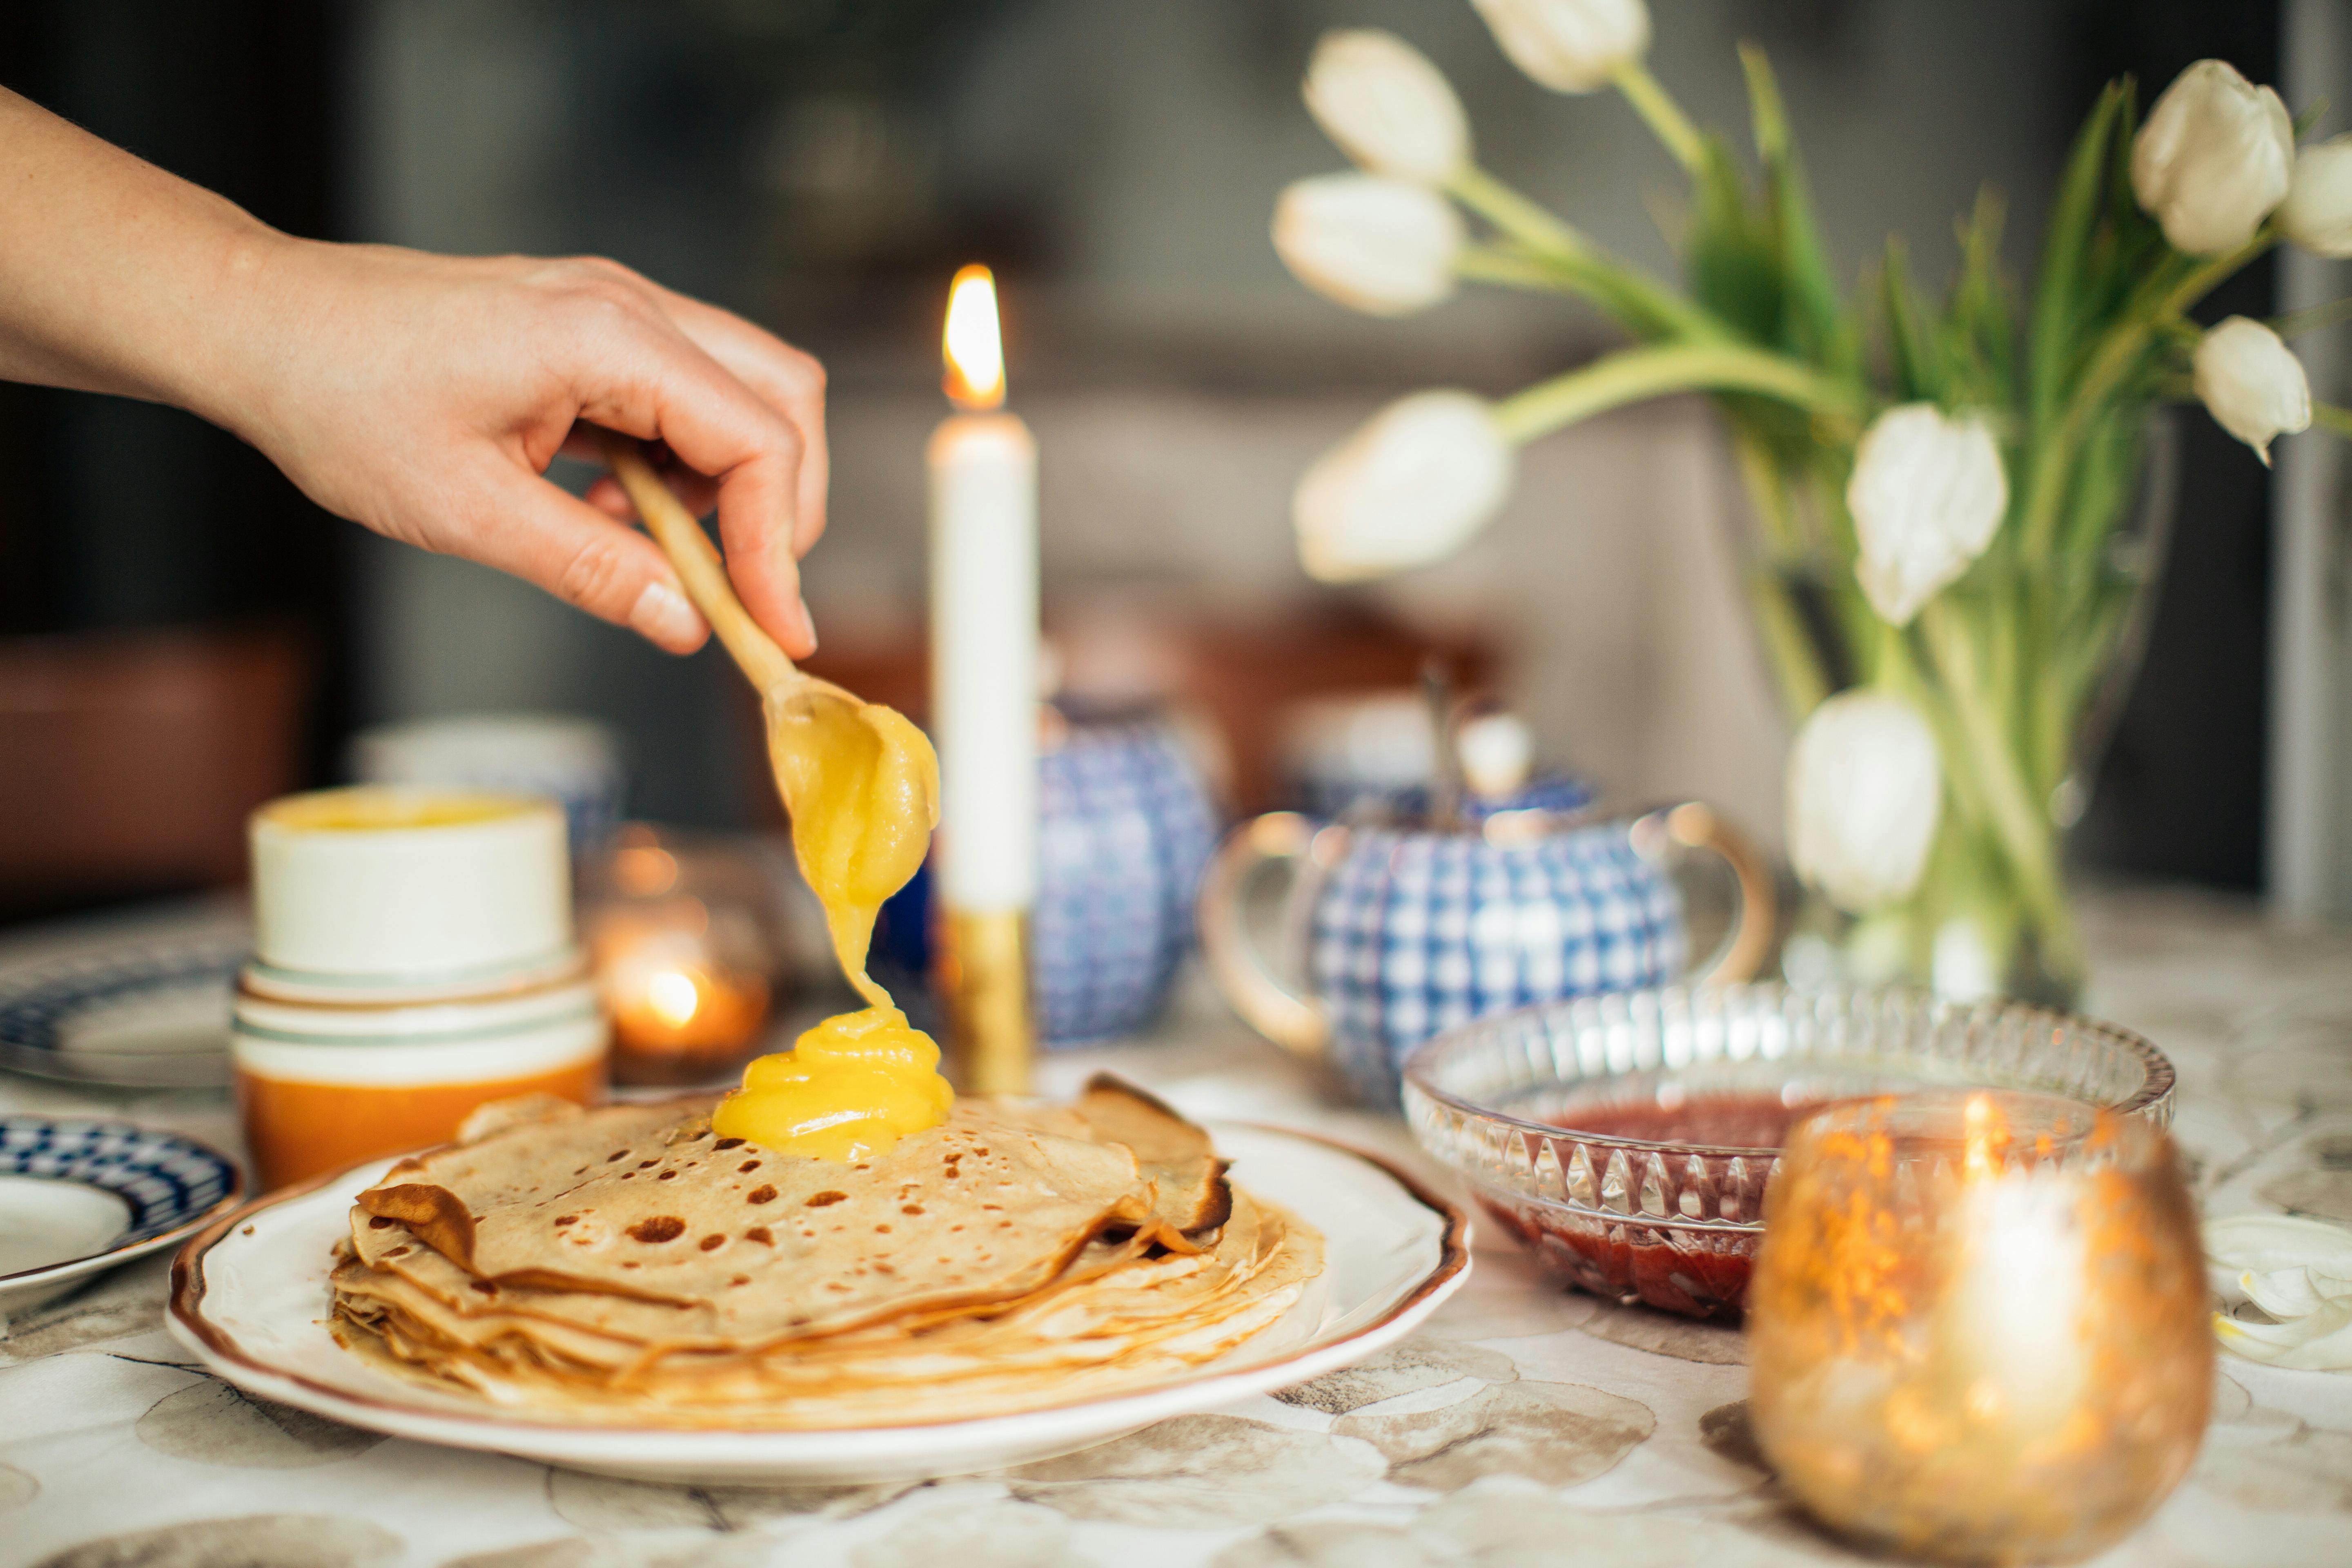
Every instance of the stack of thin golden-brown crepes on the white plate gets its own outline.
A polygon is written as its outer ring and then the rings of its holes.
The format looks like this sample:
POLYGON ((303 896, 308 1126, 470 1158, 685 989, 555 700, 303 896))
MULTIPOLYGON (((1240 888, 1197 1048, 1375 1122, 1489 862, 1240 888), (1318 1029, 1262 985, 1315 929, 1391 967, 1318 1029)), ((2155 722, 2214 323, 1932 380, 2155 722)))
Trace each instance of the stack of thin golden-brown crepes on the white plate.
POLYGON ((1322 1239, 1209 1135, 1096 1079, 960 1100, 856 1164, 715 1138, 708 1103, 503 1126, 360 1194, 343 1342, 560 1420, 870 1427, 1164 1380, 1301 1302, 1322 1239))

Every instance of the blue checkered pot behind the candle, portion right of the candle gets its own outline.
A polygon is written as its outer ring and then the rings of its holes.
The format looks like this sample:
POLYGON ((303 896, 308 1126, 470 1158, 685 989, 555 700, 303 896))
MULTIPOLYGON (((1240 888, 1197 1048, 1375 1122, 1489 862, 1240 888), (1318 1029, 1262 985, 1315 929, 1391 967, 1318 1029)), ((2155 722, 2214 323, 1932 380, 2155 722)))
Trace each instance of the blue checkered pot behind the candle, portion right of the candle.
POLYGON ((1150 710, 1063 705, 1037 759, 1033 1006, 1049 1046, 1148 1025, 1192 945, 1192 898, 1216 849, 1209 785, 1150 710))

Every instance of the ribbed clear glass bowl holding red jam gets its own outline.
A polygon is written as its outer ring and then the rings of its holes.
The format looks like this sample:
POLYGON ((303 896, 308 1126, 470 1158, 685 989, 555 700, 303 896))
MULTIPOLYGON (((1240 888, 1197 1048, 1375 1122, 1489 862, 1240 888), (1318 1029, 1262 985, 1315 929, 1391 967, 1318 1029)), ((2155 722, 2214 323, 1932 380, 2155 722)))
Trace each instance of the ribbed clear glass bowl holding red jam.
POLYGON ((1736 1321, 1788 1121, 1915 1086, 2025 1088, 2173 1119, 2173 1065, 2129 1030, 2018 1001, 1788 985, 1677 985, 1479 1018, 1406 1058, 1404 1114, 1552 1274, 1736 1321))

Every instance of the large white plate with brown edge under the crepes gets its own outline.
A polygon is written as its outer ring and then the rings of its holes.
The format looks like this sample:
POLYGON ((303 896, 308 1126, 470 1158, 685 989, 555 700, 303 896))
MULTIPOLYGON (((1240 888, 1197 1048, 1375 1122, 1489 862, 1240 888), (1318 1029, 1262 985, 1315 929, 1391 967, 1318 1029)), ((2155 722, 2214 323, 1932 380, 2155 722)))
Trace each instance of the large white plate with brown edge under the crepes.
POLYGON ((1392 1166, 1308 1133, 1211 1124, 1232 1175, 1324 1237, 1322 1298, 1223 1361, 1134 1394, 920 1427, 572 1427, 402 1382, 327 1333, 329 1248, 374 1161, 233 1213, 172 1265, 172 1335, 247 1394, 369 1432, 652 1481, 901 1481, 1018 1465, 1350 1366, 1409 1335, 1470 1272, 1463 1215, 1392 1166))

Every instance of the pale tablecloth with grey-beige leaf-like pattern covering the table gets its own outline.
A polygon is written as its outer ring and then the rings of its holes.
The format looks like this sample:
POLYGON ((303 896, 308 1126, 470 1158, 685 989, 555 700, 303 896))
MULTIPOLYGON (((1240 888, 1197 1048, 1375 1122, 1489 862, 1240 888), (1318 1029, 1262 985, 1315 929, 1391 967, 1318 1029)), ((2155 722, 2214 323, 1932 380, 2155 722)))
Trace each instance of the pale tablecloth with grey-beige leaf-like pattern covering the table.
MULTIPOLYGON (((2176 893, 2091 900, 2091 1009, 2180 1067, 2209 1213, 2352 1220, 2352 933, 2176 893)), ((1200 997, 1117 1067, 1192 1114, 1388 1152, 1310 1072, 1200 997)), ((111 1112, 233 1147, 221 1095, 0 1077, 0 1112, 111 1112)), ((1491 1227, 1484 1227, 1491 1232, 1491 1227)), ((1740 1340, 1543 1284, 1484 1234, 1475 1276, 1378 1361, 1007 1474, 682 1488, 379 1439, 263 1406, 160 1328, 165 1262, 0 1335, 0 1566, 16 1568, 1611 1568, 1856 1561, 1792 1514, 1748 1436, 1740 1340)), ((2223 1359, 2194 1474, 2105 1563, 2352 1561, 2352 1375, 2223 1359)))

